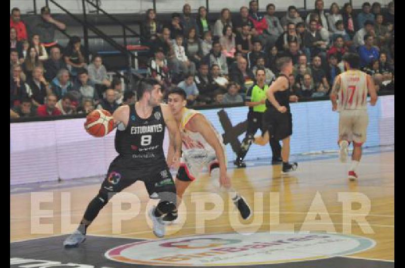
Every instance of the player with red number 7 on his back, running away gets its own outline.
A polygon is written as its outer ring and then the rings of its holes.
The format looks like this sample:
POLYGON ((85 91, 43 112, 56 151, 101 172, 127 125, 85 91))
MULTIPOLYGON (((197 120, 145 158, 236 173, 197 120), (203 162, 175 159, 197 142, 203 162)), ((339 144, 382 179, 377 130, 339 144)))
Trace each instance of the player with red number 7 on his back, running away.
POLYGON ((339 74, 332 87, 332 110, 339 115, 340 160, 346 162, 348 146, 353 142, 352 163, 349 169, 349 180, 357 178, 356 168, 361 159, 361 146, 366 142, 367 125, 367 94, 370 94, 370 104, 376 105, 377 93, 373 78, 358 70, 360 57, 347 53, 343 57, 346 72, 339 74))

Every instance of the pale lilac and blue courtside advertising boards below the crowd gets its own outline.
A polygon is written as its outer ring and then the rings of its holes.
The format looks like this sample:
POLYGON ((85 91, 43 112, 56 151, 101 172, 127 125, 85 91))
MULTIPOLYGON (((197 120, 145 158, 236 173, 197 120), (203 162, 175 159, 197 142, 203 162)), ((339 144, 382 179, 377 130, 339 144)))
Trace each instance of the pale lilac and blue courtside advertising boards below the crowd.
MULTIPOLYGON (((291 154, 338 150, 339 114, 330 101, 291 104, 291 154)), ((394 144, 394 96, 380 96, 369 106, 366 147, 394 144)), ((248 107, 201 110, 223 136, 228 161, 233 161, 245 137, 248 107)), ((84 129, 85 118, 10 124, 10 184, 68 180, 105 175, 116 156, 115 130, 93 138, 84 129)), ((167 133, 166 133, 167 134, 167 133)), ((257 135, 260 134, 258 130, 257 135)), ((166 135, 167 137, 167 135, 166 135)), ((164 150, 167 151, 168 139, 164 150)), ((270 146, 252 145, 246 160, 270 158, 270 146)), ((230 163, 230 165, 232 165, 230 163)))

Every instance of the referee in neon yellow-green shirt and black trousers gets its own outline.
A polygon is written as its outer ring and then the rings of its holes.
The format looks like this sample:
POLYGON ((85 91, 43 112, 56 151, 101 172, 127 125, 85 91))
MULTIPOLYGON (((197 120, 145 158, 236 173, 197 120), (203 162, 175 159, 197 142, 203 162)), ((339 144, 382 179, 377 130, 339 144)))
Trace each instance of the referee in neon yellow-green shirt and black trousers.
MULTIPOLYGON (((266 111, 266 91, 269 85, 265 84, 266 72, 263 68, 256 70, 256 83, 249 88, 246 95, 245 105, 249 106, 248 113, 248 129, 246 130, 245 139, 240 145, 240 149, 237 152, 236 160, 233 162, 237 167, 246 167, 244 158, 249 151, 254 135, 260 128, 263 131, 263 114, 266 111)), ((281 146, 278 140, 270 139, 270 147, 272 151, 271 164, 281 164, 281 146)))

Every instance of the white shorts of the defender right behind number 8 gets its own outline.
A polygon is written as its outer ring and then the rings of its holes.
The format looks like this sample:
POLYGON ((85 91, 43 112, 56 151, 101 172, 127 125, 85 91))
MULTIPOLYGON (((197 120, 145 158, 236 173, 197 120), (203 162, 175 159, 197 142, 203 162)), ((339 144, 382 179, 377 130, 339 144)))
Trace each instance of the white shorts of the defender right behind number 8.
POLYGON ((184 150, 180 159, 180 168, 177 172, 177 178, 185 182, 194 181, 205 166, 210 173, 213 168, 219 167, 217 155, 214 150, 200 148, 184 150))

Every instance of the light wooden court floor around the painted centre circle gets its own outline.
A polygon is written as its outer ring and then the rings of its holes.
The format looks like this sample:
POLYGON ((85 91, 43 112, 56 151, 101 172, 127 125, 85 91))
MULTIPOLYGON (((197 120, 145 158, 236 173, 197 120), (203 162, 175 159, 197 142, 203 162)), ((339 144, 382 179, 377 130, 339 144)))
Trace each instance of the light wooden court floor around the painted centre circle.
MULTIPOLYGON (((165 238, 201 235, 201 226, 197 228, 196 222, 199 222, 201 217, 217 216, 215 219, 205 221, 205 235, 235 232, 335 231, 375 241, 374 247, 346 257, 385 260, 384 263, 390 264, 394 260, 394 152, 382 151, 363 155, 357 169, 359 179, 356 182, 348 181, 346 175, 349 164, 341 164, 336 155, 302 162, 300 159, 295 160, 299 162, 298 170, 284 176, 280 175, 280 166, 252 165, 250 162, 247 163, 246 169, 228 170, 234 188, 246 198, 254 211, 252 218, 240 224, 234 221, 237 218, 237 211, 233 204, 228 202, 225 193, 217 195, 223 200, 223 211, 216 210, 214 204, 209 203, 203 206, 206 211, 196 208, 198 200, 206 200, 207 195, 215 191, 207 173, 204 173, 185 193, 184 204, 179 213, 179 221, 185 221, 184 225, 179 223, 168 227, 165 238), (197 192, 201 194, 196 194, 197 192), (348 208, 349 197, 353 197, 353 202, 348 208), (365 207, 368 200, 370 209, 365 207), (347 221, 347 218, 361 218, 361 216, 366 221, 347 221), (277 226, 277 223, 281 226, 277 226), (286 227, 286 224, 294 225, 286 227), (351 230, 351 233, 348 233, 348 230, 351 230)), ((40 216, 43 218, 39 220, 40 224, 52 224, 53 232, 49 234, 31 232, 32 218, 39 216, 31 212, 32 193, 11 194, 11 245, 34 238, 67 235, 74 231, 100 185, 97 183, 40 192, 39 195, 42 197, 47 195, 53 197, 53 202, 44 202, 39 206, 41 210, 53 210, 42 212, 40 216), (69 217, 68 224, 71 225, 61 227, 61 219, 69 217)), ((114 218, 125 215, 124 210, 130 209, 130 206, 123 204, 119 208, 117 207, 119 204, 111 200, 89 227, 88 235, 110 239, 155 240, 148 225, 150 221, 145 216, 147 205, 149 207, 154 201, 149 202, 143 183, 137 182, 124 193, 135 194, 139 198, 139 215, 123 220, 120 233, 113 231, 113 225, 116 224, 114 218), (119 209, 121 212, 116 212, 119 209)), ((119 199, 118 195, 114 197, 116 198, 119 199)), ((207 202, 210 200, 213 201, 212 197, 208 196, 207 202)), ((41 245, 41 239, 35 241, 41 245)), ((91 241, 88 239, 84 242, 86 243, 90 244, 91 241)), ((43 244, 46 248, 46 243, 43 244)), ((62 244, 59 246, 63 250, 62 244)), ((81 246, 75 250, 80 250, 81 246)), ((99 257, 103 258, 101 255, 99 257)), ((38 255, 38 259, 43 257, 38 255)))

